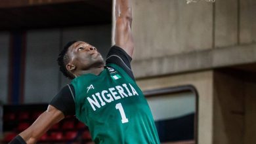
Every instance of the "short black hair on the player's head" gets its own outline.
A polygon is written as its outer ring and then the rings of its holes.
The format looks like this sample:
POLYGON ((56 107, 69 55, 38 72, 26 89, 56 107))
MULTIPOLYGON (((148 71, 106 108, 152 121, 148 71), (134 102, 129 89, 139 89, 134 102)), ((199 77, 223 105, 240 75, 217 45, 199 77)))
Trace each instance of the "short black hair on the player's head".
POLYGON ((68 62, 70 62, 70 58, 68 57, 68 48, 73 45, 75 42, 77 41, 70 41, 68 42, 63 50, 60 52, 60 54, 58 54, 58 59, 57 59, 57 62, 58 62, 58 65, 60 66, 60 71, 63 73, 63 75, 65 77, 68 77, 68 79, 74 79, 75 76, 70 73, 70 71, 68 71, 68 69, 66 69, 66 65, 68 64, 68 62))

